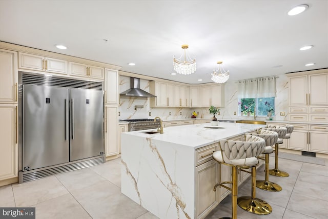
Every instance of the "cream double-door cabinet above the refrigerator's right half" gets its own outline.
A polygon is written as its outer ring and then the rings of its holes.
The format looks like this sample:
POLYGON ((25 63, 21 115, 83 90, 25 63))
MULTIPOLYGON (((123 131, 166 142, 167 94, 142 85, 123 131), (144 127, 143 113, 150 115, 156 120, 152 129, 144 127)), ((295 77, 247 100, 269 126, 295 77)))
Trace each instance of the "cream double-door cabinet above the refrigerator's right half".
POLYGON ((104 79, 104 68, 70 62, 70 75, 104 79))

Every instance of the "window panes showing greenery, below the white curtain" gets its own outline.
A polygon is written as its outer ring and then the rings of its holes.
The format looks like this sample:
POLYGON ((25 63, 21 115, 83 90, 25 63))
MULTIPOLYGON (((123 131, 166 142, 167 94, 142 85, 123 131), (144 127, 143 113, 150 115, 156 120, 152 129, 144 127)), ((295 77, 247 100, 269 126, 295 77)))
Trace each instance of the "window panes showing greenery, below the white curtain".
POLYGON ((268 112, 274 116, 275 97, 241 98, 238 105, 242 116, 248 116, 248 112, 249 115, 254 115, 254 110, 256 116, 267 116, 268 112))

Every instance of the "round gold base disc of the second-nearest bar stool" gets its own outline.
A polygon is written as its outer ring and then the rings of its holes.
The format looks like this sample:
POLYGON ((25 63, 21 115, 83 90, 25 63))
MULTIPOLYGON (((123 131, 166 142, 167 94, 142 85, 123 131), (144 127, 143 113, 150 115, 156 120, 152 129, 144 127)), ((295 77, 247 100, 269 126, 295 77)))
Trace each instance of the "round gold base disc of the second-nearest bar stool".
POLYGON ((240 208, 253 214, 264 215, 272 212, 271 206, 259 198, 252 199, 251 196, 242 196, 238 197, 237 203, 240 208))

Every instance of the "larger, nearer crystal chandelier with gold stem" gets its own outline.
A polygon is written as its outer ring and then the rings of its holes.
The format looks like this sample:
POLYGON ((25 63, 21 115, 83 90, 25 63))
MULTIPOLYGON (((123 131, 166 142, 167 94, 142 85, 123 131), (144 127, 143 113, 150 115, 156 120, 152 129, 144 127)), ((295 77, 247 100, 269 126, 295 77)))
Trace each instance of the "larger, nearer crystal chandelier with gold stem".
POLYGON ((179 74, 191 74, 196 71, 196 58, 191 59, 189 54, 186 56, 186 49, 188 49, 188 45, 182 45, 181 48, 185 51, 185 59, 181 61, 182 55, 179 58, 173 57, 173 68, 179 74))

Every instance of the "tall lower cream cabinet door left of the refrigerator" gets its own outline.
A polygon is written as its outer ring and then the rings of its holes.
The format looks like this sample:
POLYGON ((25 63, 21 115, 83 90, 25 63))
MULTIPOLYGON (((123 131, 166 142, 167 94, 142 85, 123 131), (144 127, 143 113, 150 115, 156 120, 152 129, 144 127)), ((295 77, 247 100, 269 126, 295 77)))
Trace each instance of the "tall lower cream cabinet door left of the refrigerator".
POLYGON ((0 180, 18 175, 17 106, 0 106, 0 180))

